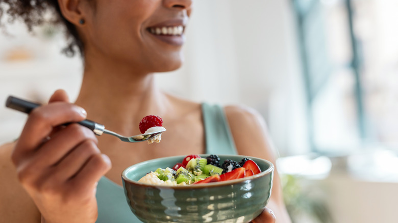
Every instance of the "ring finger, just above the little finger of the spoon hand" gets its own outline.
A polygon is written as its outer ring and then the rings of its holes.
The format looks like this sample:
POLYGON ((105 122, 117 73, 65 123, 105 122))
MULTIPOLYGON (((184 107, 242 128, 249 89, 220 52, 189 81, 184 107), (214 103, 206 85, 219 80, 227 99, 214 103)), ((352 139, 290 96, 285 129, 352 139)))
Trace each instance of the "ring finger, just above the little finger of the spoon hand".
POLYGON ((60 163, 54 166, 54 171, 59 175, 59 177, 56 178, 65 182, 73 176, 76 176, 90 157, 95 154, 101 154, 96 142, 92 140, 84 141, 74 148, 60 163))

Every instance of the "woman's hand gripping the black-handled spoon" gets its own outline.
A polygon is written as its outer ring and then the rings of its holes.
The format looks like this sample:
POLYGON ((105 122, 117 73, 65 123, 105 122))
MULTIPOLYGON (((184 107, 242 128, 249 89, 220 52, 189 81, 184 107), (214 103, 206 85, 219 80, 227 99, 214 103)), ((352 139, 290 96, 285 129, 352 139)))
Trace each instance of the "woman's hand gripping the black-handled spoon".
MULTIPOLYGON (((2 204, 8 208, 8 222, 40 222, 40 218, 46 223, 95 222, 96 182, 111 168, 110 160, 97 148, 91 130, 78 124, 60 126, 85 118, 83 108, 68 103, 64 91, 57 91, 48 105, 32 110, 8 156, 7 163, 11 158, 12 164, 7 166, 15 166, 14 171, 2 174, 14 179, 5 185, 23 188, 17 195, 26 197, 18 205, 2 204), (23 201, 28 200, 33 201, 38 217, 15 220, 14 215, 25 214, 23 201)), ((19 202, 19 197, 3 196, 10 203, 19 202)))

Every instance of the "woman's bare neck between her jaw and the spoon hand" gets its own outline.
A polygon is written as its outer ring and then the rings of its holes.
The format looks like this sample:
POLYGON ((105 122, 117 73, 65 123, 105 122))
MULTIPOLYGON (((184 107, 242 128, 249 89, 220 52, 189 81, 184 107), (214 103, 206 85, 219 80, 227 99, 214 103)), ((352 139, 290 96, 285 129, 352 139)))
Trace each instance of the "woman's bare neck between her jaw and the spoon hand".
POLYGON ((120 134, 139 134, 138 123, 146 115, 166 114, 166 95, 157 88, 152 73, 139 72, 118 63, 86 62, 76 104, 88 119, 120 134))

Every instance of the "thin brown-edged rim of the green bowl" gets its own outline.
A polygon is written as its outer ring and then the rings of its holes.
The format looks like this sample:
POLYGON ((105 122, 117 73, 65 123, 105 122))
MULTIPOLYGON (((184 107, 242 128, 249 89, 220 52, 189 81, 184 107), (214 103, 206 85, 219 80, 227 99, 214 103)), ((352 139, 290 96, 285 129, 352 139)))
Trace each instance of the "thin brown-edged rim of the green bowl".
MULTIPOLYGON (((199 156, 209 156, 211 154, 198 154, 199 156)), ((231 156, 231 157, 246 157, 248 159, 259 159, 263 162, 266 162, 267 164, 269 164, 269 168, 262 171, 259 174, 255 174, 253 176, 248 176, 248 177, 244 177, 244 178, 240 178, 240 179, 235 179, 235 180, 228 180, 228 181, 219 181, 219 182, 211 182, 211 183, 205 183, 205 184, 190 184, 190 185, 153 185, 153 184, 148 184, 148 183, 140 183, 138 181, 135 180, 131 180, 129 179, 126 174, 133 168, 135 168, 137 165, 145 165, 148 162, 154 162, 154 161, 159 161, 161 159, 164 158, 177 158, 177 157, 181 157, 181 159, 183 159, 184 157, 186 157, 187 155, 179 155, 179 156, 166 156, 166 157, 161 157, 161 158, 156 158, 156 159, 150 159, 150 160, 146 160, 146 161, 142 161, 139 163, 136 163, 134 165, 129 166, 128 168, 126 168, 122 173, 121 173, 121 177, 124 181, 127 181, 129 183, 135 184, 137 186, 144 186, 144 187, 154 187, 154 188, 165 188, 165 189, 191 189, 191 188, 204 188, 204 187, 218 187, 218 186, 225 186, 225 185, 231 185, 231 184, 236 184, 236 183, 241 183, 247 180, 254 180, 257 178, 261 178, 265 175, 271 174, 273 173, 273 170, 275 169, 274 165, 272 162, 266 160, 266 159, 262 159, 262 158, 258 158, 258 157, 254 157, 254 156, 245 156, 245 155, 238 155, 238 154, 217 154, 218 156, 231 156)))

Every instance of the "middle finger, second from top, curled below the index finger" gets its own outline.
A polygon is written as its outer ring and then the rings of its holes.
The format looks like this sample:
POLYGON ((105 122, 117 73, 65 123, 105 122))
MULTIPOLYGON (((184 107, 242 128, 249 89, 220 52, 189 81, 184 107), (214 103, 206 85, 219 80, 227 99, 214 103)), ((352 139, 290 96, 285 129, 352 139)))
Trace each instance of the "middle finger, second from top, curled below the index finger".
POLYGON ((44 143, 33 156, 41 166, 52 166, 62 161, 73 148, 87 140, 98 142, 90 129, 76 123, 70 124, 54 133, 51 139, 44 143))

